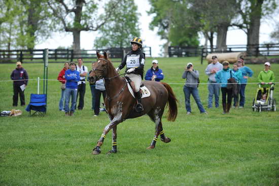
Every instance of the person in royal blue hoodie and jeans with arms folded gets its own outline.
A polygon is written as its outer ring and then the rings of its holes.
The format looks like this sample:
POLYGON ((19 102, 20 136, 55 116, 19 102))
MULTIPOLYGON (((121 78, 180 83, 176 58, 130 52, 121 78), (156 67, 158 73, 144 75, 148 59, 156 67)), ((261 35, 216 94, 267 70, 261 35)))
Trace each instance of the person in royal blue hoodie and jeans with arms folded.
POLYGON ((76 64, 72 62, 70 69, 65 72, 66 89, 65 89, 65 115, 72 116, 76 110, 78 82, 80 81, 80 73, 75 70, 76 64), (71 110, 69 109, 69 99, 72 97, 71 110))

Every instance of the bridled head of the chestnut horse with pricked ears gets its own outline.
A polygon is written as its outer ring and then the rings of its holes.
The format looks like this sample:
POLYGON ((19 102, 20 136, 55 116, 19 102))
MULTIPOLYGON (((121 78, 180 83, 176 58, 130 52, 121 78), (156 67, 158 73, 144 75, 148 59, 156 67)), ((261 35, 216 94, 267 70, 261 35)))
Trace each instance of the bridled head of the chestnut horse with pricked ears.
POLYGON ((108 56, 107 52, 104 51, 103 55, 101 55, 98 51, 97 54, 97 61, 94 63, 94 68, 92 69, 91 73, 89 74, 89 81, 96 82, 99 79, 107 77, 108 75, 108 56))

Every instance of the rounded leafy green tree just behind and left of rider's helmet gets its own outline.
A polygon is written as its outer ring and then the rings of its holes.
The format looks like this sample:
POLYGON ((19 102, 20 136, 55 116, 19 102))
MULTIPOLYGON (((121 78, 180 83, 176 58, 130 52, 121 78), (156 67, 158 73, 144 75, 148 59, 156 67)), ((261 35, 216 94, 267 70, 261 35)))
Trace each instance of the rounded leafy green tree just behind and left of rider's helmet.
POLYGON ((95 48, 129 47, 133 37, 140 37, 138 17, 141 14, 137 12, 134 0, 121 1, 118 6, 121 8, 115 10, 116 16, 111 16, 107 24, 99 28, 95 48))

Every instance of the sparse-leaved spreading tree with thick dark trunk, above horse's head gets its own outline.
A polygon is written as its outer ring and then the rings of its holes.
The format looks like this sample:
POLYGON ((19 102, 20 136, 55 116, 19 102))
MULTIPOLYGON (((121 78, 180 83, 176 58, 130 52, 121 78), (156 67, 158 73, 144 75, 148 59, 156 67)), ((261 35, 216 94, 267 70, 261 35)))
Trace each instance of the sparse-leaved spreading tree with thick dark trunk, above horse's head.
MULTIPOLYGON (((123 0, 122 0, 123 1, 123 0)), ((73 46, 76 52, 80 52, 80 33, 82 31, 96 31, 104 25, 117 8, 121 0, 109 0, 104 4, 104 13, 100 13, 98 1, 51 0, 48 5, 53 11, 56 20, 62 23, 61 30, 73 33, 73 46)))

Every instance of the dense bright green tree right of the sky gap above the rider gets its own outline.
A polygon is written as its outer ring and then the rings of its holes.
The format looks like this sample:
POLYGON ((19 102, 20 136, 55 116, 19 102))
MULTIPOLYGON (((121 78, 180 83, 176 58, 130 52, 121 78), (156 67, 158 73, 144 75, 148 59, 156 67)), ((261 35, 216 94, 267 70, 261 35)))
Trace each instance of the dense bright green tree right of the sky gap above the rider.
POLYGON ((154 15, 150 29, 158 28, 158 35, 165 39, 164 56, 169 45, 198 46, 196 29, 185 23, 185 12, 188 10, 185 1, 149 0, 151 9, 149 15, 154 15))

